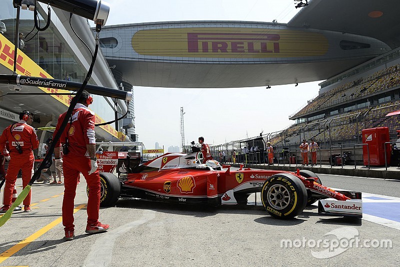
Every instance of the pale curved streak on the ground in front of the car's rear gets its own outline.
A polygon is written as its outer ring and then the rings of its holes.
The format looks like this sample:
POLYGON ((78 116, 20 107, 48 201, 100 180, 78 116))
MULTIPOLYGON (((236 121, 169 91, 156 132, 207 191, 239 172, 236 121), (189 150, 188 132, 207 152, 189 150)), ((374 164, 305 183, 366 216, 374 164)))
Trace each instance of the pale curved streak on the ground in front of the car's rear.
POLYGON ((153 218, 155 218, 155 211, 145 210, 140 219, 126 223, 105 233, 92 244, 83 266, 109 266, 112 260, 112 250, 116 238, 153 218), (101 247, 101 249, 98 249, 99 247, 101 247))

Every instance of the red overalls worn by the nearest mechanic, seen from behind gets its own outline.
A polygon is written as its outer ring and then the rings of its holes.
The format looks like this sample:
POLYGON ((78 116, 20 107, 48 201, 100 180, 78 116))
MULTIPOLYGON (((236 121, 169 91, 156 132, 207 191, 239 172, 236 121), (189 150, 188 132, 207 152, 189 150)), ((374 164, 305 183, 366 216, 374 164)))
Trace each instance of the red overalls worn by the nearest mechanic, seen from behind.
MULTIPOLYGON (((59 126, 65 117, 65 113, 58 117, 58 123, 55 128, 53 139, 58 132, 59 126)), ((87 152, 86 144, 95 143, 94 135, 95 115, 82 104, 76 104, 72 116, 68 119, 68 124, 61 134, 56 147, 60 143, 68 142, 69 152, 63 151, 62 169, 64 173, 64 198, 62 200, 62 224, 65 231, 74 230, 73 208, 76 194, 76 185, 79 173, 82 173, 86 179, 89 188, 87 200, 87 223, 94 224, 98 222, 98 210, 100 205, 100 176, 99 171, 88 175, 90 171, 90 158, 87 152), (72 123, 71 123, 72 122, 72 123)))

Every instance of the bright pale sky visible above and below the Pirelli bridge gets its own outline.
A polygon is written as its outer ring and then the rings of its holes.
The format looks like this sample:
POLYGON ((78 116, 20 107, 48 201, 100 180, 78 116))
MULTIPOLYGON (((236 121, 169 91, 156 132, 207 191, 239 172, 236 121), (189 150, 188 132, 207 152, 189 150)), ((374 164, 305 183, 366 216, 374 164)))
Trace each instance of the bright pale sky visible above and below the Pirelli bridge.
MULTIPOLYGON (((106 0, 106 26, 166 21, 253 21, 287 23, 299 9, 293 0, 138 1, 106 0)), ((319 81, 320 82, 320 81, 319 81)), ((225 89, 134 86, 135 131, 147 149, 180 146, 180 108, 185 144, 203 136, 209 145, 282 130, 288 116, 318 94, 319 82, 225 89)))

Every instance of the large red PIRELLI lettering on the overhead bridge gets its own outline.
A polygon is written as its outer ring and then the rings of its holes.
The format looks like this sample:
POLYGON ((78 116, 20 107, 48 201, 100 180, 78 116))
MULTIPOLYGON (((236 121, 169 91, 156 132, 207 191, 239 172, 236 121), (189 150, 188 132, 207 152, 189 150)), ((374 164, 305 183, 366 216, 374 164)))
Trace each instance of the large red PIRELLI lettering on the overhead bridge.
POLYGON ((188 53, 279 53, 280 35, 250 33, 187 33, 188 53))

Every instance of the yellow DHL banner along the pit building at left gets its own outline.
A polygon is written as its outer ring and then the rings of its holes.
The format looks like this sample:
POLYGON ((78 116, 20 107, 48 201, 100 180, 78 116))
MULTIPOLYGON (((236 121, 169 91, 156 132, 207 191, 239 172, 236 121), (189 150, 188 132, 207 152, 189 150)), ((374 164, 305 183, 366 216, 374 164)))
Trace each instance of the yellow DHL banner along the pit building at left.
MULTIPOLYGON (((13 70, 14 65, 14 45, 8 41, 3 35, 0 34, 0 64, 8 68, 9 70, 13 70)), ((23 52, 18 49, 17 58, 16 58, 16 72, 17 74, 33 76, 33 77, 42 77, 49 78, 52 77, 45 72, 42 68, 40 68, 34 61, 32 61, 28 56, 26 56, 23 52)), ((53 88, 45 88, 38 87, 45 93, 69 93, 67 90, 59 90, 53 88)), ((50 95, 52 98, 55 98, 63 105, 69 107, 71 96, 68 95, 50 95)), ((96 124, 104 123, 105 121, 97 116, 96 114, 96 124)), ((106 131, 107 133, 113 135, 114 137, 120 139, 125 137, 122 133, 118 133, 114 128, 110 125, 99 126, 101 129, 106 131), (123 135, 123 136, 122 136, 123 135)), ((124 140, 124 139, 120 139, 124 140)))

